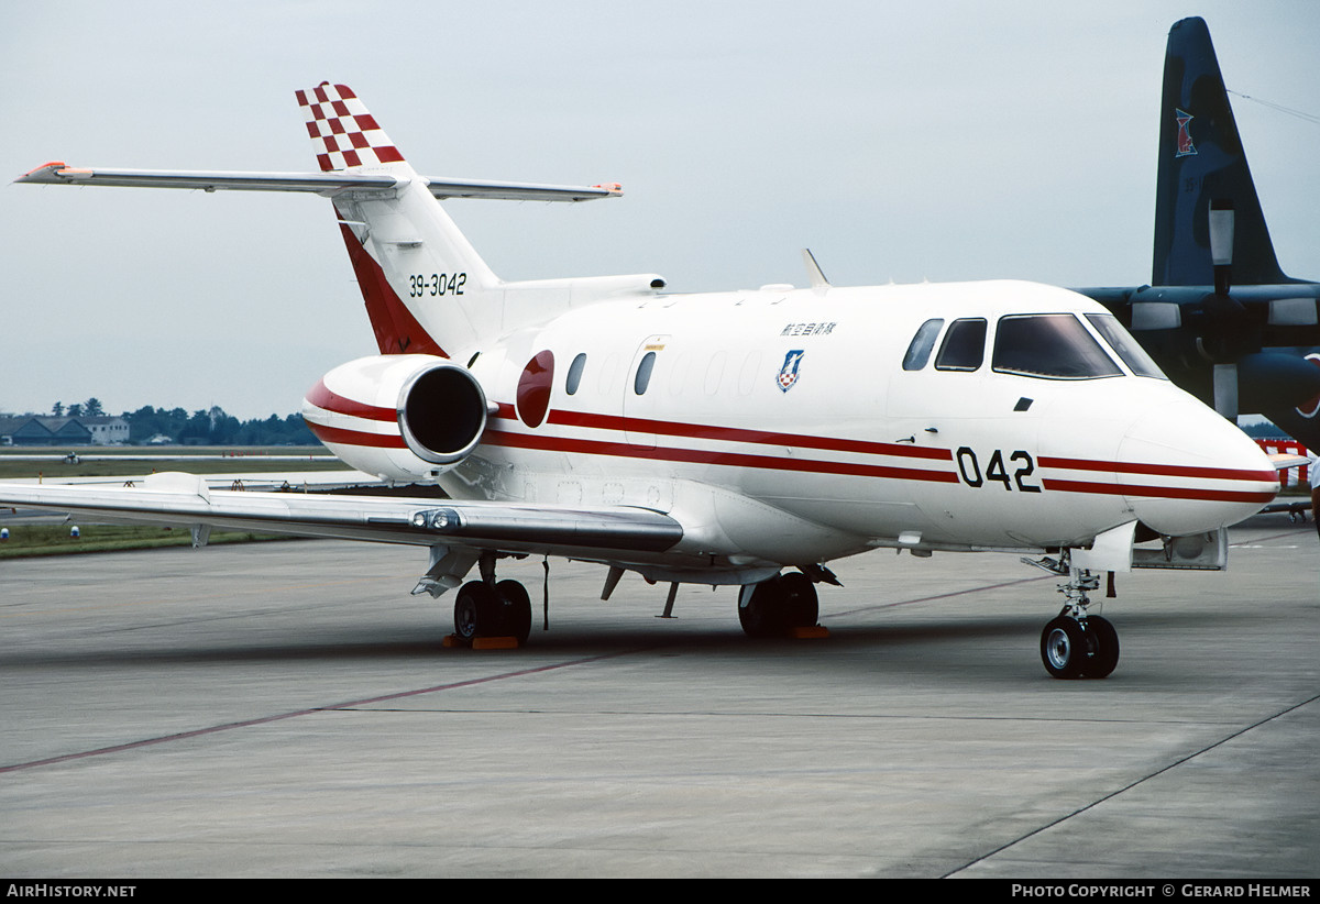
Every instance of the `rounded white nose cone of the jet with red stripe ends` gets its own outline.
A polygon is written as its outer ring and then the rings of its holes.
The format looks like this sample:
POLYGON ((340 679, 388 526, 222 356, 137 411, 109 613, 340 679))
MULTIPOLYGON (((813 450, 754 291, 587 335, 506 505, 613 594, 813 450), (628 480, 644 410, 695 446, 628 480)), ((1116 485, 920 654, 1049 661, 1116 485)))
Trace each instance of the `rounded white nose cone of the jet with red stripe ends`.
POLYGON ((1236 524, 1279 492, 1261 447, 1191 396, 1147 409, 1118 458, 1127 504, 1143 524, 1172 536, 1236 524))

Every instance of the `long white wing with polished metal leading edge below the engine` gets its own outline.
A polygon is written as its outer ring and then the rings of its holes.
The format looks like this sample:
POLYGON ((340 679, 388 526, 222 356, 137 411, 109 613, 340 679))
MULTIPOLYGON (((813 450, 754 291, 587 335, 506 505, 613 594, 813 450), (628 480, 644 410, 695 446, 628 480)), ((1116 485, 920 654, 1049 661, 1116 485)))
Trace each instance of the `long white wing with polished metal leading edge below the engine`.
POLYGON ((207 525, 239 531, 378 542, 525 552, 599 554, 663 552, 682 527, 660 512, 628 505, 599 508, 519 505, 451 499, 397 499, 300 492, 211 491, 193 474, 153 474, 139 487, 0 483, 0 504, 100 515, 145 524, 207 525))

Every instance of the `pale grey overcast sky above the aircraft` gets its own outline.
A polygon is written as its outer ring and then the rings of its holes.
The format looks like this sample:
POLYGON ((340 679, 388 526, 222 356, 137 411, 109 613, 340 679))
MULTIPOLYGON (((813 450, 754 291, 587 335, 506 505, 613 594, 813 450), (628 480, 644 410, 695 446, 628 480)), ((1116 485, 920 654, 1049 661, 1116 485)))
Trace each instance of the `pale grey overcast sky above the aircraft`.
MULTIPOLYGON (((0 0, 0 176, 312 170, 293 99, 350 84, 426 176, 618 181, 450 202, 506 278, 677 292, 1150 278, 1164 42, 1203 16, 1230 90, 1320 113, 1320 4, 0 0)), ((1233 99, 1284 271, 1320 278, 1320 125, 1233 99)), ((330 203, 3 185, 0 412, 90 396, 296 410, 375 352, 330 203)))

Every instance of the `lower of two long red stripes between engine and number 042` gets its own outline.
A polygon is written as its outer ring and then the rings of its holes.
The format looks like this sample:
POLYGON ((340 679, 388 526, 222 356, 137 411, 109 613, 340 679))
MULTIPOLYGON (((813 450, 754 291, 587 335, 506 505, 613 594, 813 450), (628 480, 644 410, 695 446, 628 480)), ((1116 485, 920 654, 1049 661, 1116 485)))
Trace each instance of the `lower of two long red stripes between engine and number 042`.
POLYGON ((667 462, 688 462, 694 465, 759 467, 775 471, 808 471, 813 474, 850 474, 855 476, 891 478, 896 480, 928 480, 933 483, 958 482, 958 475, 952 471, 921 471, 911 467, 886 467, 883 465, 774 458, 771 455, 748 455, 744 453, 709 451, 704 449, 655 449, 649 446, 635 446, 627 442, 569 439, 565 437, 548 437, 531 433, 506 433, 503 430, 487 430, 482 437, 482 442, 490 446, 582 453, 587 455, 614 455, 619 458, 645 458, 667 462))

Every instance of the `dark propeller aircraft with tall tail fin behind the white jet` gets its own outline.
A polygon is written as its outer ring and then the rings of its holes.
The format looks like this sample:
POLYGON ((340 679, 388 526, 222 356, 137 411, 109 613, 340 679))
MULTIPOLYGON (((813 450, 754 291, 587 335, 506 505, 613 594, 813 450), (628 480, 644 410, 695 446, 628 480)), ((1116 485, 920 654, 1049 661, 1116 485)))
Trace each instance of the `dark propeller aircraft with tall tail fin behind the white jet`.
POLYGON ((1078 289, 1180 387, 1320 449, 1320 284, 1283 273, 1201 18, 1168 33, 1151 285, 1078 289))

